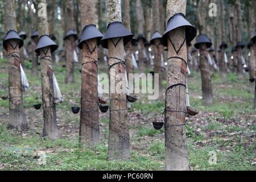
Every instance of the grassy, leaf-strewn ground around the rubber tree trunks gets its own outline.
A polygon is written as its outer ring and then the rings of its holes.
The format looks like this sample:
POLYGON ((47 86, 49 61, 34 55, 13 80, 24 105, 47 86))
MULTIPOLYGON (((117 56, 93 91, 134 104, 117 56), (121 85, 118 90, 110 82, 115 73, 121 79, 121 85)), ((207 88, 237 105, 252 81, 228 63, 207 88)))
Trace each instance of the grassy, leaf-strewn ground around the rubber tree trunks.
MULTIPOLYGON (((74 84, 64 84, 62 63, 53 69, 59 82, 64 102, 57 105, 59 139, 52 142, 41 136, 43 110, 33 105, 41 102, 40 76, 25 72, 30 90, 24 93, 24 107, 30 130, 9 131, 9 100, 0 100, 0 170, 163 170, 164 131, 154 130, 152 121, 162 119, 164 102, 145 98, 131 105, 128 116, 131 158, 107 161, 109 112, 100 114, 101 142, 93 147, 79 144, 80 114, 73 114, 71 106, 80 105, 81 75, 76 65, 74 84), (40 154, 46 152, 46 164, 40 164, 40 154)), ((6 60, 0 60, 0 96, 8 95, 6 60)), ((103 69, 101 69, 101 72, 103 69)), ((203 106, 200 73, 188 77, 191 106, 200 114, 187 118, 187 147, 192 170, 256 170, 256 113, 253 109, 254 92, 247 75, 239 80, 230 73, 212 75, 214 104, 203 106), (216 154, 216 164, 212 155, 216 154)))

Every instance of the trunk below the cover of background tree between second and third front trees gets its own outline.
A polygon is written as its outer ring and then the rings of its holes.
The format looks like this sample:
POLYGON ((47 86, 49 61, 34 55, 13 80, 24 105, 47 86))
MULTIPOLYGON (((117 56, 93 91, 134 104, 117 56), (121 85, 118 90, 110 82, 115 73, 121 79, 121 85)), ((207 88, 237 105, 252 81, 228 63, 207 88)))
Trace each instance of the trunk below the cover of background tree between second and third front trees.
POLYGON ((73 36, 68 36, 65 40, 65 57, 66 57, 66 77, 65 83, 74 82, 74 49, 75 39, 73 36))

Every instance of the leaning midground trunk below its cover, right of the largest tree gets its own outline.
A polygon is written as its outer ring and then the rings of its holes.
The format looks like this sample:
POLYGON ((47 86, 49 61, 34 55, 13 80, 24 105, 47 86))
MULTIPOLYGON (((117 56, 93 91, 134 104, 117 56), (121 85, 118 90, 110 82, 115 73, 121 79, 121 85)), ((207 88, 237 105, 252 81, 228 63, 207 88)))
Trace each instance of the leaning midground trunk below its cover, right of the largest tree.
POLYGON ((212 81, 210 79, 209 64, 207 61, 208 51, 206 44, 199 45, 199 52, 203 101, 204 105, 211 105, 213 104, 212 81))

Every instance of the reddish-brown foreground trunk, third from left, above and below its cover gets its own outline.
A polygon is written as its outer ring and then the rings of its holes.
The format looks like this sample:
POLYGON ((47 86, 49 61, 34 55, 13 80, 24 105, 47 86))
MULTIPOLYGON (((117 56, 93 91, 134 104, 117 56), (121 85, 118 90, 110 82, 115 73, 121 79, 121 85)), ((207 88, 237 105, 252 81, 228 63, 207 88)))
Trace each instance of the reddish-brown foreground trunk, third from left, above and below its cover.
MULTIPOLYGON (((95 24, 94 0, 80 1, 82 28, 95 24)), ((98 49, 97 40, 90 39, 82 47, 82 89, 80 140, 92 145, 100 140, 98 111, 98 49), (95 49, 94 49, 95 48, 95 49), (91 52, 90 50, 93 50, 91 52)))

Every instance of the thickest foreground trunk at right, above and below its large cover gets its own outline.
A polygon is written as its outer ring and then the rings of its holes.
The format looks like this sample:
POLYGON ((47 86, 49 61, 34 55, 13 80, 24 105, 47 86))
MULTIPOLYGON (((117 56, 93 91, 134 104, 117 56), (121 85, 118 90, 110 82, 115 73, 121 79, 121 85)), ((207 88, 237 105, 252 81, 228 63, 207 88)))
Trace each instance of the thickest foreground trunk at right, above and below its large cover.
MULTIPOLYGON (((167 19, 176 13, 185 14, 187 1, 167 1, 167 19)), ((185 39, 185 28, 176 28, 169 32, 168 36, 174 42, 175 47, 180 47, 185 39)), ((165 112, 165 146, 166 146, 166 170, 189 170, 187 147, 185 142, 185 111, 186 111, 186 70, 187 46, 186 43, 176 54, 172 44, 168 41, 168 57, 180 59, 168 59, 167 66, 167 89, 166 90, 166 112, 165 112), (174 110, 176 112, 174 112, 174 110), (179 125, 179 126, 174 126, 179 125), (174 126, 174 127, 171 127, 174 126)))

